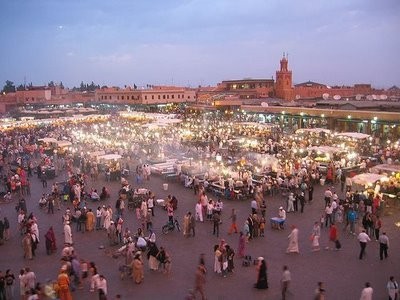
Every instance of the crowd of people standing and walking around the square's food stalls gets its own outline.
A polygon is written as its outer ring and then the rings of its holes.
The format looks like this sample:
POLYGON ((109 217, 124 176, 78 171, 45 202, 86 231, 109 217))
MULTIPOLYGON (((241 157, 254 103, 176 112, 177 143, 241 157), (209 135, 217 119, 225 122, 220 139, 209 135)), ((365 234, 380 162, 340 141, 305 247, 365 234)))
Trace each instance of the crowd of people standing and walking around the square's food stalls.
MULTIPOLYGON (((80 148, 74 154, 71 153, 71 155, 65 157, 57 157, 57 155, 50 157, 44 153, 41 147, 30 148, 31 152, 25 151, 26 146, 36 144, 37 136, 45 136, 50 133, 61 135, 61 132, 68 136, 65 126, 49 126, 47 129, 28 128, 1 136, 1 169, 4 178, 4 198, 18 200, 18 205, 16 206, 18 227, 15 229, 10 228, 10 222, 7 217, 0 220, 0 241, 7 243, 11 230, 20 235, 24 259, 26 261, 38 259, 37 248, 41 242, 39 224, 41 224, 40 218, 43 217, 38 217, 33 212, 29 212, 24 199, 32 196, 30 193, 31 181, 34 180, 32 177, 35 170, 43 189, 49 191, 48 194, 43 194, 38 199, 38 206, 42 206, 49 217, 55 214, 55 210, 56 212, 58 210, 63 211, 62 242, 57 242, 53 226, 46 228, 45 235, 42 235, 45 239, 44 244, 47 255, 57 255, 55 253, 61 251, 61 264, 58 274, 55 274, 56 279, 40 284, 36 280, 35 274, 29 268, 24 268, 19 276, 20 296, 29 300, 39 297, 40 294, 45 294, 50 298, 58 296, 60 299, 72 299, 74 290, 89 286, 91 292, 97 292, 99 299, 106 299, 109 296, 106 276, 99 272, 94 262, 79 257, 79 253, 75 250, 75 235, 85 234, 90 238, 92 232, 95 231, 104 233, 104 240, 108 242, 104 246, 105 248, 111 249, 110 251, 113 252, 113 255, 123 257, 124 264, 121 267, 121 274, 122 272, 127 272, 135 284, 141 284, 144 280, 146 259, 149 270, 159 270, 168 276, 172 271, 172 256, 164 246, 159 245, 159 241, 156 238, 153 223, 156 217, 154 208, 157 202, 154 193, 150 190, 143 193, 142 191, 139 192, 139 189, 131 188, 124 178, 123 169, 119 167, 120 172, 116 179, 121 181, 121 189, 117 195, 117 200, 112 203, 112 200, 109 200, 110 193, 107 188, 111 184, 109 182, 111 180, 111 175, 109 174, 111 169, 108 167, 99 168, 95 160, 87 154, 94 149, 80 151, 83 149, 82 145, 79 145, 80 148), (81 156, 79 155, 80 153, 82 153, 81 156), (59 174, 59 178, 64 176, 65 180, 54 182, 48 187, 48 180, 50 180, 46 172, 48 167, 54 167, 59 174), (104 180, 98 176, 99 170, 103 172, 104 180), (94 186, 97 182, 104 184, 100 194, 94 186), (140 199, 140 201, 136 201, 136 199, 140 199), (93 204, 97 206, 97 209, 90 207, 93 204), (137 224, 139 224, 138 228, 132 231, 128 226, 126 212, 130 208, 135 211, 137 224)), ((91 130, 90 124, 81 124, 81 126, 80 130, 87 129, 88 132, 91 130)), ((72 127, 76 129, 76 125, 72 127)), ((248 130, 244 130, 246 133, 244 135, 247 135, 248 130)), ((238 130, 237 132, 243 134, 243 130, 238 130)), ((98 134, 103 137, 106 135, 108 137, 112 136, 110 132, 106 134, 98 132, 98 134)), ((174 134, 177 133, 174 132, 174 134)), ((221 132, 216 130, 203 137, 210 141, 207 147, 211 157, 213 152, 217 152, 216 150, 221 143, 222 146, 226 143, 224 142, 225 137, 219 136, 220 134, 221 132)), ((279 132, 261 132, 259 135, 263 138, 266 138, 265 135, 269 135, 265 144, 259 148, 265 153, 278 155, 282 147, 286 145, 280 143, 279 132)), ((70 133, 70 137, 74 141, 78 141, 77 135, 70 133)), ((116 138, 113 141, 116 142, 116 138)), ((111 148, 116 147, 113 150, 118 150, 126 160, 125 164, 121 163, 118 166, 125 165, 125 170, 128 171, 136 170, 131 178, 134 178, 133 183, 138 186, 143 182, 150 181, 152 176, 149 165, 143 163, 140 158, 140 146, 148 143, 148 139, 139 139, 139 141, 143 144, 135 144, 131 148, 122 148, 121 145, 118 147, 109 145, 111 148), (137 162, 136 168, 132 167, 133 162, 137 162)), ((169 141, 168 143, 170 147, 176 146, 175 142, 169 141)), ((151 147, 149 146, 146 149, 149 150, 151 147)), ((161 151, 161 149, 157 149, 157 151, 161 151)), ((397 153, 390 153, 390 158, 396 160, 396 155, 397 153)), ((366 246, 373 239, 379 242, 379 258, 381 260, 387 258, 389 237, 385 231, 381 230, 383 227, 381 218, 382 199, 379 198, 379 194, 354 191, 351 181, 348 180, 349 174, 339 170, 341 170, 340 164, 335 165, 332 163, 325 174, 318 163, 301 162, 301 160, 293 158, 286 162, 281 161, 281 168, 278 172, 275 174, 268 172, 260 180, 255 179, 255 174, 251 170, 243 172, 240 170, 237 178, 233 178, 233 174, 219 176, 218 181, 222 182, 221 186, 232 193, 223 193, 218 196, 211 195, 208 189, 210 184, 208 180, 211 181, 210 178, 199 182, 194 177, 193 183, 188 187, 193 188, 194 202, 196 204, 193 210, 187 211, 183 219, 179 220, 183 224, 182 235, 187 238, 195 238, 197 228, 201 226, 200 230, 204 230, 204 228, 210 226, 207 223, 212 224, 212 234, 217 238, 220 238, 222 231, 224 234, 237 233, 237 245, 229 245, 224 239, 220 239, 219 244, 216 244, 213 251, 210 251, 214 255, 214 272, 221 275, 221 277, 227 277, 228 274, 235 272, 235 260, 242 260, 247 256, 246 247, 248 243, 251 243, 256 238, 261 239, 264 237, 268 201, 276 197, 282 197, 284 204, 279 208, 278 212, 278 218, 283 220, 283 222, 279 223, 279 229, 281 230, 287 227, 287 219, 290 218, 290 214, 307 215, 307 203, 321 205, 321 217, 319 220, 315 220, 311 231, 311 250, 318 251, 321 249, 320 243, 324 240, 322 237, 323 229, 327 228, 325 249, 331 249, 330 243, 333 243, 332 249, 341 249, 342 243, 339 240, 339 234, 340 232, 345 232, 357 236, 360 244, 360 259, 364 259, 366 246), (327 176, 328 174, 331 174, 331 178, 327 176), (336 175, 333 176, 332 174, 336 175), (320 184, 319 179, 322 176, 328 178, 329 187, 324 192, 324 199, 315 199, 313 194, 314 187, 320 184), (242 191, 245 191, 244 194, 249 195, 250 200, 249 212, 246 214, 246 218, 241 220, 238 220, 235 208, 232 208, 229 213, 224 209, 224 200, 233 198, 238 181, 242 183, 242 191), (361 232, 358 232, 358 225, 363 227, 361 232), (340 231, 339 229, 342 230, 340 231)), ((160 214, 161 216, 157 215, 157 218, 165 216, 168 218, 169 224, 173 224, 176 219, 175 212, 178 208, 177 198, 179 198, 179 195, 177 197, 173 195, 166 197, 163 202, 165 212, 163 212, 163 215, 160 214)), ((288 253, 301 253, 299 230, 303 229, 292 225, 291 232, 288 235, 288 253)), ((325 243, 325 241, 323 242, 325 243)), ((257 281, 255 287, 266 289, 269 287, 266 259, 263 257, 257 259, 256 266, 257 281)), ((203 299, 206 297, 205 275, 206 268, 204 257, 202 257, 196 269, 193 294, 200 293, 203 299)), ((0 275, 0 292, 3 290, 1 278, 2 275, 0 275)), ((7 286, 14 285, 14 280, 14 275, 12 275, 11 270, 8 270, 4 276, 4 291, 7 295, 10 295, 10 287, 7 288, 7 286), (11 277, 13 281, 8 284, 7 282, 11 282, 11 277)), ((290 281, 291 275, 288 267, 285 266, 281 280, 283 299, 288 293, 290 281)), ((363 297, 371 295, 371 289, 370 285, 366 285, 363 290, 363 294, 366 296, 363 297)), ((393 295, 393 290, 397 293, 396 289, 398 290, 398 285, 394 279, 391 279, 388 283, 388 293, 393 295)), ((325 288, 323 284, 318 283, 316 296, 318 296, 318 299, 324 299, 324 294, 325 288)), ((10 296, 5 297, 5 299, 10 298, 10 296)))

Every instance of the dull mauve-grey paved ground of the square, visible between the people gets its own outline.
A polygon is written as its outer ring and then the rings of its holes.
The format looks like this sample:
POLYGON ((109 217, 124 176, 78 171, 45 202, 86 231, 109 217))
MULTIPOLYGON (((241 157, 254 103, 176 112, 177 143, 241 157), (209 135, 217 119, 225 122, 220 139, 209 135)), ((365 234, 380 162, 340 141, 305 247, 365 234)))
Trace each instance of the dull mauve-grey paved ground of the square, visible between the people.
MULTIPOLYGON (((63 176, 56 180, 62 181, 63 176)), ((185 189, 177 183, 169 183, 169 190, 162 190, 163 180, 153 177, 151 181, 142 186, 148 187, 156 193, 156 198, 163 198, 167 194, 173 194, 178 198, 178 211, 180 222, 184 213, 188 210, 194 211, 195 198, 192 190, 185 189)), ((21 239, 16 233, 17 214, 15 212, 15 201, 11 204, 1 204, 1 217, 8 216, 12 226, 12 239, 0 247, 0 269, 5 271, 11 268, 15 274, 24 266, 30 266, 38 279, 44 282, 47 278, 55 278, 59 268, 60 251, 63 235, 61 215, 62 211, 54 215, 48 215, 39 209, 37 201, 44 191, 38 179, 32 179, 32 196, 27 199, 28 210, 33 211, 39 220, 41 243, 37 251, 37 257, 33 261, 24 261, 22 258, 21 239), (44 247, 44 234, 52 225, 56 230, 56 237, 59 246, 57 254, 47 256, 44 247)), ((103 179, 89 186, 100 189, 104 185, 103 179)), ((49 188, 51 182, 49 182, 49 188)), ((118 183, 111 184, 112 197, 109 203, 114 207, 118 183)), ((184 299, 187 291, 193 287, 194 271, 198 262, 199 254, 206 254, 208 268, 206 291, 208 299, 280 299, 280 276, 282 266, 288 265, 292 273, 291 294, 288 299, 312 299, 313 291, 317 281, 325 282, 327 299, 353 300, 359 299, 361 289, 366 281, 370 281, 374 288, 374 299, 386 299, 385 286, 390 275, 400 280, 400 239, 399 228, 394 225, 400 221, 399 211, 391 216, 383 218, 384 228, 391 238, 389 258, 385 261, 379 260, 378 244, 373 241, 367 246, 367 256, 364 260, 358 259, 359 245, 355 237, 342 234, 343 249, 341 251, 311 252, 309 235, 313 222, 318 219, 322 210, 323 187, 315 188, 314 203, 307 205, 304 214, 288 214, 287 224, 296 224, 300 230, 300 251, 299 255, 288 255, 285 253, 287 247, 287 235, 289 229, 284 231, 271 230, 268 226, 264 238, 257 238, 247 245, 247 253, 253 257, 264 256, 268 264, 269 285, 268 290, 256 290, 253 283, 256 279, 254 266, 242 267, 241 261, 236 260, 234 274, 227 278, 217 276, 212 272, 214 255, 213 245, 219 242, 212 233, 210 223, 197 224, 197 235, 195 238, 184 238, 177 232, 163 236, 160 232, 161 226, 167 220, 165 212, 157 207, 154 219, 157 233, 158 245, 166 247, 172 254, 172 274, 167 277, 161 273, 154 273, 148 270, 146 261, 145 280, 141 285, 135 285, 130 279, 120 280, 118 264, 122 260, 114 259, 106 255, 104 250, 99 250, 100 245, 107 245, 105 232, 77 233, 74 235, 75 249, 78 255, 84 259, 94 261, 98 265, 99 272, 104 274, 108 281, 109 297, 120 293, 123 299, 184 299)), ((276 215, 277 209, 283 204, 278 196, 267 198, 267 216, 276 215)), ((88 205, 93 210, 97 204, 88 205)), ((228 213, 231 208, 238 209, 238 223, 243 224, 247 214, 250 212, 249 202, 225 201, 224 202, 224 223, 221 225, 220 238, 224 238, 228 244, 237 249, 238 236, 226 234, 229 221, 228 213)), ((125 225, 131 230, 138 226, 133 212, 125 216, 125 225)), ((342 232, 341 232, 342 233, 342 232)), ((322 230, 321 245, 327 244, 327 230, 322 230)), ((88 292, 86 284, 84 290, 74 293, 74 299, 96 299, 95 294, 88 292)))

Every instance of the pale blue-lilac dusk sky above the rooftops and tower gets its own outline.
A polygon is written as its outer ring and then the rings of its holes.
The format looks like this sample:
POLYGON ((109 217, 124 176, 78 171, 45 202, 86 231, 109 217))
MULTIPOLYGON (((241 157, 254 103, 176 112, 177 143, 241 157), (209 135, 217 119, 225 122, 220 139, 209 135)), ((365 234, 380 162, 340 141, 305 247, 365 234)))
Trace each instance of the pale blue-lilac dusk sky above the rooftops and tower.
POLYGON ((400 86, 399 0, 2 0, 0 88, 294 83, 400 86))

